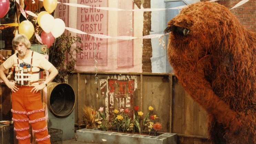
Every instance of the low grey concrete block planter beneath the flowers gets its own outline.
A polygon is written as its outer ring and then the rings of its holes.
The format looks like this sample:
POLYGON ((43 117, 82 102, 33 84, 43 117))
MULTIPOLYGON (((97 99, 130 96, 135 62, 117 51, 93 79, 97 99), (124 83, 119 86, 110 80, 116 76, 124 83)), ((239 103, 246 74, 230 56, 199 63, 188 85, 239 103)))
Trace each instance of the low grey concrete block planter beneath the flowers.
POLYGON ((84 128, 76 131, 76 141, 91 144, 176 144, 177 134, 148 136, 84 128))

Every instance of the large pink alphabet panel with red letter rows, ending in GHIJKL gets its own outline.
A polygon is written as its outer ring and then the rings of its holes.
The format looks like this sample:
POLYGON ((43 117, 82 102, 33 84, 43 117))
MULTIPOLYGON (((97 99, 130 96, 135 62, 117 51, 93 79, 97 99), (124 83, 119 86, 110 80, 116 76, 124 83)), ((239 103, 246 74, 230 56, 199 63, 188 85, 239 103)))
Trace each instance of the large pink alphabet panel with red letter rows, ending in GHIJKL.
MULTIPOLYGON (((107 7, 107 0, 78 0, 78 4, 90 7, 107 7)), ((77 29, 86 33, 107 35, 107 11, 96 8, 78 8, 77 29)), ((82 52, 77 54, 76 65, 107 65, 107 39, 79 34, 82 52)))

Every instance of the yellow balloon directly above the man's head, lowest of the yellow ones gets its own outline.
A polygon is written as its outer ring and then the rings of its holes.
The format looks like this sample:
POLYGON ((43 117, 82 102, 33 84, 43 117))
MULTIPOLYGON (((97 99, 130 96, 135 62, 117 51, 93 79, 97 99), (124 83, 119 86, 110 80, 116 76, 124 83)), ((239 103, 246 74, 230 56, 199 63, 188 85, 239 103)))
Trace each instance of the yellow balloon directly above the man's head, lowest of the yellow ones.
POLYGON ((34 25, 30 21, 24 20, 20 23, 18 30, 20 34, 25 34, 30 39, 34 34, 34 25))

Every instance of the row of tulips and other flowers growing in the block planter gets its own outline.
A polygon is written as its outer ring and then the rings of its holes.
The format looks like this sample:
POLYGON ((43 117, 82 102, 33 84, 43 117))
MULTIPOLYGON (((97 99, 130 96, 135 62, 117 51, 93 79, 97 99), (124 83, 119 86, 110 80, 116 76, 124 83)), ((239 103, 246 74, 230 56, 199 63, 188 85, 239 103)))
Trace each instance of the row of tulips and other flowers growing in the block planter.
POLYGON ((137 132, 157 135, 162 129, 162 124, 157 122, 158 117, 153 115, 154 108, 149 106, 149 111, 143 118, 143 112, 139 111, 139 106, 134 106, 133 116, 129 115, 131 110, 120 109, 113 111, 113 118, 107 120, 104 108, 100 107, 98 111, 92 107, 84 106, 84 123, 86 128, 98 127, 102 131, 116 130, 117 132, 137 132), (152 133, 153 132, 153 133, 152 133))

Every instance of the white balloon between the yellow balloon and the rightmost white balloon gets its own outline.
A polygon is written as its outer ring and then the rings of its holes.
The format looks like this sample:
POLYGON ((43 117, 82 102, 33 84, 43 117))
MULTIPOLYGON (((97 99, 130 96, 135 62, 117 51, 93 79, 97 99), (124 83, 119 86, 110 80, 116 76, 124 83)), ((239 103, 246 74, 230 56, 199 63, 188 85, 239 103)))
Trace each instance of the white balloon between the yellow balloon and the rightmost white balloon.
POLYGON ((40 25, 44 32, 51 32, 54 26, 54 18, 51 14, 44 14, 40 19, 40 25))

